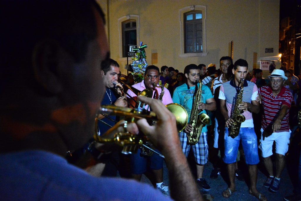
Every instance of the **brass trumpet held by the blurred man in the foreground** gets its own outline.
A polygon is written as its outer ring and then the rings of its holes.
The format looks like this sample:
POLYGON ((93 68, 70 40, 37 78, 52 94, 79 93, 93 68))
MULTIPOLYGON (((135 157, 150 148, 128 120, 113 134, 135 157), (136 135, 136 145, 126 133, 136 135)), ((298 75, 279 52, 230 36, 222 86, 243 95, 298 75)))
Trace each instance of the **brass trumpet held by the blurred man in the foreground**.
MULTIPOLYGON (((167 109, 175 115, 177 130, 182 131, 188 122, 188 114, 185 108, 182 105, 176 103, 171 103, 166 105, 167 109)), ((118 130, 114 133, 114 128, 108 130, 103 135, 98 133, 94 134, 94 139, 100 143, 115 143, 119 146, 123 146, 122 153, 130 154, 137 152, 140 146, 149 139, 143 134, 133 134, 126 131, 128 123, 134 122, 135 119, 146 118, 149 120, 157 120, 157 116, 153 111, 142 110, 140 108, 122 108, 113 105, 103 105, 100 108, 100 111, 107 115, 117 115, 128 117, 128 121, 124 121, 123 130, 118 130)))

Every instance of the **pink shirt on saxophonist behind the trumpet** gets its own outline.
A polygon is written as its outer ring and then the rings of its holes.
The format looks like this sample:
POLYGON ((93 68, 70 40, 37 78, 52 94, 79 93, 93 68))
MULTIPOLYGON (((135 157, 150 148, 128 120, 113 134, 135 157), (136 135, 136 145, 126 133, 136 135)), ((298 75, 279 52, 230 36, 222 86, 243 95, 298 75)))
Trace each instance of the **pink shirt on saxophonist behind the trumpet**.
MULTIPOLYGON (((159 86, 159 85, 157 85, 157 86, 159 86)), ((137 83, 137 84, 134 84, 134 85, 132 85, 132 87, 135 88, 135 89, 138 89, 139 91, 143 91, 143 90, 146 89, 146 87, 145 87, 145 85, 144 85, 144 81, 139 82, 139 83, 137 83)), ((161 90, 160 87, 156 87, 156 90, 153 91, 153 97, 154 97, 154 98, 155 98, 155 97, 159 98, 160 93, 161 93, 162 90, 161 90), (156 90, 157 90, 157 91, 156 91, 156 90), (155 93, 156 93, 156 96, 154 96, 155 93)), ((137 100, 137 95, 136 95, 135 93, 133 93, 131 90, 128 90, 127 93, 128 93, 131 97, 133 97, 135 100, 137 100)), ((132 103, 132 105, 135 105, 135 103, 133 104, 132 99, 130 99, 128 95, 126 95, 126 96, 128 97, 128 100, 132 103)), ((170 93, 169 93, 169 90, 166 89, 165 87, 164 87, 164 95, 163 95, 163 98, 162 98, 162 103, 163 103, 164 105, 167 105, 167 104, 169 104, 169 103, 173 103, 173 102, 172 102, 172 98, 171 98, 170 93)), ((141 105, 141 106, 142 106, 142 105, 141 105)), ((144 108, 145 108, 145 109, 148 108, 148 105, 146 105, 144 108)), ((150 109, 148 108, 148 110, 150 110, 150 109)))

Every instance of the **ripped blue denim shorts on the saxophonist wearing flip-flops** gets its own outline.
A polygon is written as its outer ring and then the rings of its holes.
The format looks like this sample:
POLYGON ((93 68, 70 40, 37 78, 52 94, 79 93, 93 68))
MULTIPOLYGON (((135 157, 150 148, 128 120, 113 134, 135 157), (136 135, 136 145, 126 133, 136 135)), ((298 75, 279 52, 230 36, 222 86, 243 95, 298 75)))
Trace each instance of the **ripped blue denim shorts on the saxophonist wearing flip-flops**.
POLYGON ((246 163, 248 165, 256 165, 259 163, 257 137, 254 128, 240 128, 239 134, 234 139, 228 136, 228 128, 225 128, 225 154, 223 161, 226 164, 235 163, 239 142, 241 140, 246 163))

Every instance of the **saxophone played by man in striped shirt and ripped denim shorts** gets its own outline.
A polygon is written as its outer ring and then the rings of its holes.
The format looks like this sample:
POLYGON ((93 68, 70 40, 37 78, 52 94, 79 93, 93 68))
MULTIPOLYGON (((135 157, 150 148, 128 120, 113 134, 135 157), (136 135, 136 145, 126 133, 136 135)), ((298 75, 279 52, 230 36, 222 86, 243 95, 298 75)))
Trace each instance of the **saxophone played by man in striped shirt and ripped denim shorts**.
POLYGON ((237 99, 234 105, 234 111, 232 114, 232 119, 234 120, 234 122, 231 124, 228 132, 228 136, 232 138, 235 138, 239 134, 240 125, 246 120, 245 116, 241 114, 243 113, 243 111, 238 108, 239 104, 241 104, 243 101, 244 79, 240 79, 238 86, 239 84, 241 84, 241 89, 237 95, 237 99))

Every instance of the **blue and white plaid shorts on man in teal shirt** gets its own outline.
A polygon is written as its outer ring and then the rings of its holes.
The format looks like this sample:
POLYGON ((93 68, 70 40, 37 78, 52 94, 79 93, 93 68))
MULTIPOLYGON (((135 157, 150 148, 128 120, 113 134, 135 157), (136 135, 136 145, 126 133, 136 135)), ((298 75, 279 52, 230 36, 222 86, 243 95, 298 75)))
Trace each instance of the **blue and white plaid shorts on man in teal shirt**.
POLYGON ((195 162, 199 165, 205 165, 208 159, 208 144, 207 144, 207 132, 200 134, 200 140, 195 145, 187 144, 186 133, 179 133, 182 151, 188 157, 190 147, 194 153, 195 162))

